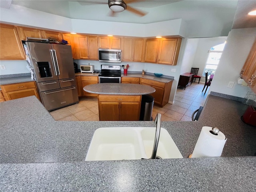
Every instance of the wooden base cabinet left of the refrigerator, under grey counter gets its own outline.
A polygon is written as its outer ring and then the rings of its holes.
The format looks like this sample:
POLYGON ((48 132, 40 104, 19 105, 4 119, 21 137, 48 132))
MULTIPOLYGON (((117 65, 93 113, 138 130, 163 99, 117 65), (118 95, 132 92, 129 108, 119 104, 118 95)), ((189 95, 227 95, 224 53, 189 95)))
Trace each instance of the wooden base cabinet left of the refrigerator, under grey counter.
POLYGON ((1 85, 6 101, 28 96, 36 96, 40 100, 35 81, 1 85))

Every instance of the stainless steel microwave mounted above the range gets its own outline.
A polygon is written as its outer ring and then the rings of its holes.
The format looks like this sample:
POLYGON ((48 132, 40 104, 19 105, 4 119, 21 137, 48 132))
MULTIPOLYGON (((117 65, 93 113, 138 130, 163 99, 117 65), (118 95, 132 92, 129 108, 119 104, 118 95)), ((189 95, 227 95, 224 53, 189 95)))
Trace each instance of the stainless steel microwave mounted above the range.
POLYGON ((121 62, 121 50, 119 49, 99 49, 99 61, 120 63, 121 62))

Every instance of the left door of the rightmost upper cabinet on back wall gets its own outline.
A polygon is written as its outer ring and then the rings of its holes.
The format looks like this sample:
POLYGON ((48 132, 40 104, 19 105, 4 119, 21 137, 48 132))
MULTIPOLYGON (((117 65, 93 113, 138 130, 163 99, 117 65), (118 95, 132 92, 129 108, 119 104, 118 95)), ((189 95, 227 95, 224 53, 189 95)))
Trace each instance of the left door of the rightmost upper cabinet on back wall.
POLYGON ((159 39, 147 39, 145 62, 156 63, 158 54, 159 39))

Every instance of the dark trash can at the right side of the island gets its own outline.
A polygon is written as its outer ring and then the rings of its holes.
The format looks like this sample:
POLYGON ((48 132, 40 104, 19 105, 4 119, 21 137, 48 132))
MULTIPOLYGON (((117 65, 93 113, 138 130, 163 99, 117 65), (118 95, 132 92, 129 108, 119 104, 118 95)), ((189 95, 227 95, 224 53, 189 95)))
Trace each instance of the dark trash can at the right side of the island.
POLYGON ((154 105, 154 97, 151 95, 142 95, 140 106, 140 121, 150 121, 154 105))

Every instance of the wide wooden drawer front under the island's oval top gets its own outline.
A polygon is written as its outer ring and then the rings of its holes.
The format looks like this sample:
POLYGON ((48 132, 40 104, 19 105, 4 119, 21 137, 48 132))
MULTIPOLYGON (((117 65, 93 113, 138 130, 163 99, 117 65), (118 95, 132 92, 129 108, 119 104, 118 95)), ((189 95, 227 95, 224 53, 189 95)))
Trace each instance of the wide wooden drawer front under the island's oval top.
POLYGON ((123 96, 123 95, 99 95, 99 102, 101 101, 120 101, 120 102, 140 102, 141 96, 123 96))

